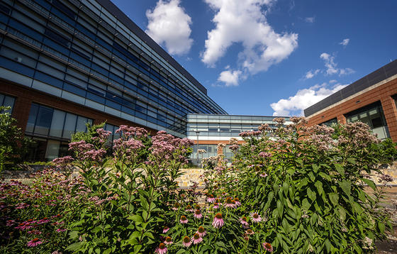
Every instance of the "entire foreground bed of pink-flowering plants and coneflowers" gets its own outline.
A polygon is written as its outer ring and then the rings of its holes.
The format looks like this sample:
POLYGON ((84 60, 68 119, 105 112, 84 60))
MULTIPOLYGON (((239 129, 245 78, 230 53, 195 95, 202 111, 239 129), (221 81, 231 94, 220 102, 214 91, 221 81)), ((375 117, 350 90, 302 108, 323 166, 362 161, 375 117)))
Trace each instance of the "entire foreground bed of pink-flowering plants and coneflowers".
MULTIPOLYGON (((108 163, 102 128, 30 184, 0 186, 4 253, 370 253, 385 238, 382 189, 367 175, 396 154, 363 123, 334 128, 276 118, 230 140, 235 158, 202 161, 197 184, 176 179, 193 142, 120 126, 108 163), (335 134, 337 133, 337 135, 335 134), (380 152, 388 148, 386 156, 380 152), (76 177, 76 175, 78 175, 76 177), (364 186, 374 195, 364 192, 364 186)), ((391 177, 381 175, 381 182, 391 177)))

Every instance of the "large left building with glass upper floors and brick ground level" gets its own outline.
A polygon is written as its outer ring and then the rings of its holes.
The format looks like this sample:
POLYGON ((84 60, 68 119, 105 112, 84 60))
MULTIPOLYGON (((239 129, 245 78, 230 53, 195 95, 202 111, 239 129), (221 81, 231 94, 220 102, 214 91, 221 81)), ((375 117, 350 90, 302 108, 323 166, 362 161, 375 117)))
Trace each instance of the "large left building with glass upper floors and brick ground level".
POLYGON ((0 101, 38 140, 65 151, 84 123, 106 120, 187 135, 187 114, 226 114, 194 77, 108 0, 0 2, 0 101))

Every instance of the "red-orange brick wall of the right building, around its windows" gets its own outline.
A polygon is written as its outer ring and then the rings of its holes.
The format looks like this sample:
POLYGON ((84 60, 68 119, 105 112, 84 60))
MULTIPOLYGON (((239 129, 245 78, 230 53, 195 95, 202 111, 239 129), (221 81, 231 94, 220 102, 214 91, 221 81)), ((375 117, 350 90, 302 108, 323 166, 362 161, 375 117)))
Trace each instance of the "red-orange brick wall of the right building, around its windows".
POLYGON ((346 123, 345 114, 376 101, 381 101, 391 139, 397 142, 397 108, 394 99, 391 97, 395 94, 397 94, 397 79, 391 79, 380 85, 375 84, 374 88, 369 89, 369 91, 359 92, 352 98, 347 98, 345 101, 330 106, 330 109, 308 116, 308 125, 324 123, 335 117, 338 122, 346 123))

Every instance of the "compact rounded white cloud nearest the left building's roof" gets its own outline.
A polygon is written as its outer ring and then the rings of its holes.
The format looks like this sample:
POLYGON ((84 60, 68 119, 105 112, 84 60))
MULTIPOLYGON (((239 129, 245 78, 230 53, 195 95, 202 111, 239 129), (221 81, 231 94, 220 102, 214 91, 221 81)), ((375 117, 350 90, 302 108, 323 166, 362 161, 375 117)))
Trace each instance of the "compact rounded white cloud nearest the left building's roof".
POLYGON ((164 43, 167 51, 175 55, 188 53, 193 43, 191 18, 179 4, 180 0, 160 0, 155 9, 146 11, 149 20, 146 33, 157 43, 164 43))

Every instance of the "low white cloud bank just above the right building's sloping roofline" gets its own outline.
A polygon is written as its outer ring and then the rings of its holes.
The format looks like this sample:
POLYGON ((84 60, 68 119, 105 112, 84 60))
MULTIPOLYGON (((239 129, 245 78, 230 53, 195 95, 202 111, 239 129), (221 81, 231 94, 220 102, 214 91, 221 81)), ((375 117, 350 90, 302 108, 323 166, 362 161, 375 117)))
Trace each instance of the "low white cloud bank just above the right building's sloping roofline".
POLYGON ((303 116, 303 109, 307 109, 309 106, 346 86, 347 84, 334 84, 330 86, 327 83, 323 83, 320 85, 316 84, 308 89, 298 90, 294 96, 290 96, 288 99, 280 99, 270 104, 274 110, 273 116, 290 116, 291 114, 303 116))

